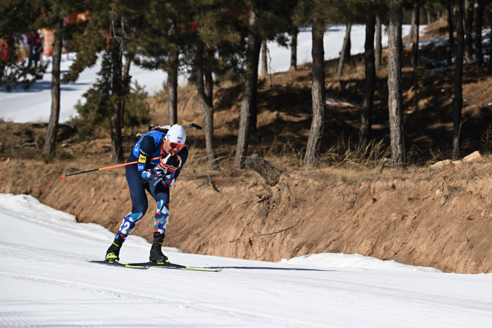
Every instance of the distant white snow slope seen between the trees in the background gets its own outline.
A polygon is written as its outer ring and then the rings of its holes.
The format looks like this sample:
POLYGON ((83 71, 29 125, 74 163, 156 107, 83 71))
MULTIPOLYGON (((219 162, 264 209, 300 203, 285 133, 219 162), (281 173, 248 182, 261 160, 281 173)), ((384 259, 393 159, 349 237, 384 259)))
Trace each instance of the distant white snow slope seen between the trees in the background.
MULTIPOLYGON (((421 26, 420 30, 426 26, 421 26)), ((330 60, 339 57, 343 37, 345 36, 345 26, 331 27, 324 37, 325 59, 330 60)), ((408 34, 409 25, 404 25, 402 34, 408 34)), ((364 52, 365 26, 353 26, 350 31, 351 53, 359 54, 364 52)), ((383 33, 383 46, 387 45, 387 35, 383 33)), ((311 62, 311 31, 310 29, 301 30, 298 35, 297 62, 303 64, 311 62)), ((269 42, 267 48, 269 55, 269 72, 277 73, 286 71, 290 67, 290 49, 279 47, 276 42, 269 42)), ((64 54, 62 56, 62 73, 68 72, 75 54, 64 54)), ((45 59, 47 60, 47 59, 45 59)), ((92 68, 86 69, 81 73, 79 80, 75 83, 62 84, 60 100, 60 122, 64 123, 77 115, 75 105, 77 101, 85 102, 82 97, 92 84, 96 81, 100 63, 96 63, 92 68)), ((261 69, 261 59, 260 68, 261 69)), ((136 65, 130 67, 132 81, 137 81, 144 86, 149 95, 163 89, 162 83, 166 81, 167 74, 162 70, 145 70, 136 65)), ((186 83, 186 77, 180 76, 179 85, 186 83)), ((179 94, 178 94, 179 97, 179 94)), ((0 119, 16 123, 25 122, 48 122, 51 114, 51 64, 48 65, 47 72, 43 79, 36 81, 30 89, 22 87, 13 88, 7 92, 4 88, 0 89, 0 119)))

